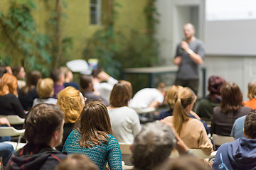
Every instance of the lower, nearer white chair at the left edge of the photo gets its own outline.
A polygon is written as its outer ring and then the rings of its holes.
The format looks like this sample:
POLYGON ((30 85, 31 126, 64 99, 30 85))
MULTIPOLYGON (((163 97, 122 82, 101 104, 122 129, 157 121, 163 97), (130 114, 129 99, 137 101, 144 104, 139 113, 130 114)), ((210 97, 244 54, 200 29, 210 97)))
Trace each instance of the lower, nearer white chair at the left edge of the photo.
POLYGON ((25 143, 21 143, 21 137, 23 136, 25 130, 16 130, 14 127, 0 127, 0 137, 4 136, 19 136, 18 142, 6 142, 14 146, 14 149, 20 149, 25 143))

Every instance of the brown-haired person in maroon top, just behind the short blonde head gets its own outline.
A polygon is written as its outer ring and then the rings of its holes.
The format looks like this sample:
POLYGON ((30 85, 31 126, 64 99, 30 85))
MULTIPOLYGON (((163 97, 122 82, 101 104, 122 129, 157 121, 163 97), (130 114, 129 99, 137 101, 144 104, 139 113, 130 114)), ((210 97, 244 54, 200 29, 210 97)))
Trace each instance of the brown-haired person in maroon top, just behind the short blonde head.
POLYGON ((50 73, 50 78, 53 79, 53 98, 57 98, 58 92, 62 91, 64 87, 65 82, 65 76, 64 73, 60 71, 60 69, 53 69, 53 71, 50 73))

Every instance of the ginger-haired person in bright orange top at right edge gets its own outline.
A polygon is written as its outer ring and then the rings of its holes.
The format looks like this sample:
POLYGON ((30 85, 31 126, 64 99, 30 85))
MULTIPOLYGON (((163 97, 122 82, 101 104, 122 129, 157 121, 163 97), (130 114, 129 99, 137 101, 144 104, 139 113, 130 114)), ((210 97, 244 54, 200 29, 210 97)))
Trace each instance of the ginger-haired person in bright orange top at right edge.
POLYGON ((247 98, 249 101, 245 101, 245 106, 256 109, 256 80, 248 84, 247 98))

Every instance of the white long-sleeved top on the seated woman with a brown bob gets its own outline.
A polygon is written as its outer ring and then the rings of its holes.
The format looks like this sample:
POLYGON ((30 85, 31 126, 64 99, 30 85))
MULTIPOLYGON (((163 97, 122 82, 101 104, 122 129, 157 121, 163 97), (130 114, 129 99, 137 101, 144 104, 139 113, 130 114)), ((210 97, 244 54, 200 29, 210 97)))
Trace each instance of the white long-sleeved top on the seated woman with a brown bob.
POLYGON ((126 106, 108 110, 113 136, 118 142, 132 144, 141 130, 136 111, 126 106))

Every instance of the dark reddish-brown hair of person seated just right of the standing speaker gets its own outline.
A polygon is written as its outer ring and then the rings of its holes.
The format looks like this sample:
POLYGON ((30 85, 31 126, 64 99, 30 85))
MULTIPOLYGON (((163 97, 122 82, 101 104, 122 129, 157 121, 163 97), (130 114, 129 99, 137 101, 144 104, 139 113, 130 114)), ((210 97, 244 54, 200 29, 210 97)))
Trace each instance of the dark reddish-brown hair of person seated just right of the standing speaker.
POLYGON ((220 88, 225 83, 225 79, 218 76, 211 76, 208 79, 208 91, 210 94, 207 96, 210 101, 214 101, 216 96, 220 96, 220 88))

